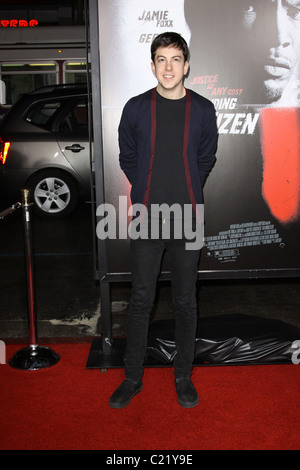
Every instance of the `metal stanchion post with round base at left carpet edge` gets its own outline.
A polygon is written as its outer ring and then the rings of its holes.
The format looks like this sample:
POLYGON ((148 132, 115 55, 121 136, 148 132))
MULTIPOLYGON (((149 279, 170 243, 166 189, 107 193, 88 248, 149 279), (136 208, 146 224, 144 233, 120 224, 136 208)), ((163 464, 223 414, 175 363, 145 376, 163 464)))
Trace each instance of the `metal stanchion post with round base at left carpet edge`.
POLYGON ((24 245, 26 259, 28 315, 29 315, 29 346, 18 351, 9 361, 9 365, 21 370, 39 370, 55 365, 60 357, 46 346, 38 346, 35 318, 34 263, 31 226, 30 191, 22 189, 22 211, 24 228, 24 245))

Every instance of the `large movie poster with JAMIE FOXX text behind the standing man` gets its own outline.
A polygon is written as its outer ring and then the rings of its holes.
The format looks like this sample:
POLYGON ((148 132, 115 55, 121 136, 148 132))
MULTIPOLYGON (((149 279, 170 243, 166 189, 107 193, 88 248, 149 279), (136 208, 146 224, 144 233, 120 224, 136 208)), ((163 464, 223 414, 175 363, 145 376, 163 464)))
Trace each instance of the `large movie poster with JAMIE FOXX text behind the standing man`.
MULTIPOLYGON (((300 4, 99 0, 98 14, 106 202, 118 213, 130 194, 118 162, 123 106, 156 86, 151 42, 176 31, 191 51, 185 86, 214 103, 219 130, 199 272, 299 269, 300 4)), ((107 249, 108 272, 130 272, 128 239, 107 249)))

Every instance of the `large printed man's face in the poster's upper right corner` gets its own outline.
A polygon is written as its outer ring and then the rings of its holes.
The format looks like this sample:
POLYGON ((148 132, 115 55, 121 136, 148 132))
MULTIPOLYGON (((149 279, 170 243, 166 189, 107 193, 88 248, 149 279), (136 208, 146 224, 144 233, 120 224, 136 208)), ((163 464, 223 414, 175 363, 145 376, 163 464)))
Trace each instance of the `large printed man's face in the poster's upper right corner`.
MULTIPOLYGON (((241 0, 247 55, 262 77, 267 102, 297 93, 300 58, 300 0, 241 0)), ((299 93, 299 89, 298 89, 299 93)))

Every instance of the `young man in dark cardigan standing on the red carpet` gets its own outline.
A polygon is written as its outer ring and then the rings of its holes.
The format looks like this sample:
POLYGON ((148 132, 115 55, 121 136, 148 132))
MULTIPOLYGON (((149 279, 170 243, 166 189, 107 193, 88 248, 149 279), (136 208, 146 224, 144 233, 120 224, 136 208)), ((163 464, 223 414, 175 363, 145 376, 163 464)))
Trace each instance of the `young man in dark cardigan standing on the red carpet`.
POLYGON ((151 58, 158 85, 125 105, 119 145, 120 166, 132 184, 132 204, 147 210, 146 215, 140 216, 141 220, 150 222, 149 233, 153 235, 153 226, 157 224, 159 229, 158 235, 130 240, 132 297, 128 312, 126 379, 110 398, 112 408, 127 406, 142 390, 149 317, 165 250, 170 258, 176 308, 174 370, 178 402, 187 408, 198 403, 190 376, 197 324, 195 285, 200 247, 196 244, 193 249, 187 249, 187 240, 184 234, 178 236, 172 216, 168 221, 169 237, 165 237, 165 217, 155 220, 153 209, 157 205, 177 204, 180 208, 189 205, 193 209, 189 212, 191 223, 197 225, 198 208, 203 204, 202 187, 215 163, 215 110, 210 101, 184 87, 189 50, 179 34, 163 33, 156 37, 151 45, 151 58))

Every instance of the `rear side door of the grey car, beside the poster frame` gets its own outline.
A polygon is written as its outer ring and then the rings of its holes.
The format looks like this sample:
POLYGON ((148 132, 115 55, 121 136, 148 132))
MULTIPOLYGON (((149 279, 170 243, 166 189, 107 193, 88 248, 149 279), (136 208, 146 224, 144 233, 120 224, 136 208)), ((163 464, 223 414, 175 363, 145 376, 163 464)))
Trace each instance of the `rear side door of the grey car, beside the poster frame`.
POLYGON ((77 174, 84 192, 90 188, 91 163, 87 98, 75 99, 57 126, 58 145, 77 174))

